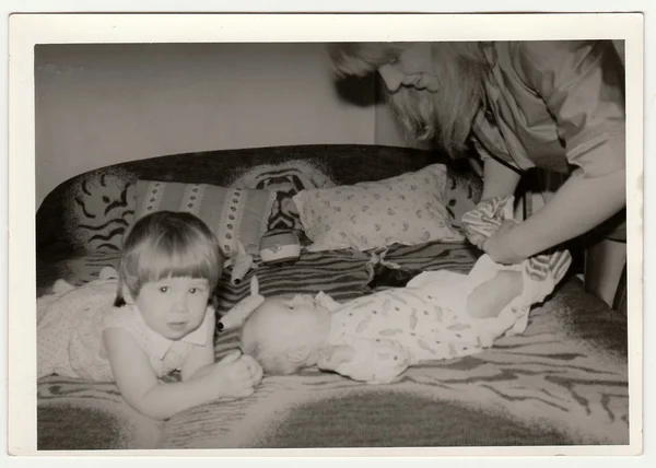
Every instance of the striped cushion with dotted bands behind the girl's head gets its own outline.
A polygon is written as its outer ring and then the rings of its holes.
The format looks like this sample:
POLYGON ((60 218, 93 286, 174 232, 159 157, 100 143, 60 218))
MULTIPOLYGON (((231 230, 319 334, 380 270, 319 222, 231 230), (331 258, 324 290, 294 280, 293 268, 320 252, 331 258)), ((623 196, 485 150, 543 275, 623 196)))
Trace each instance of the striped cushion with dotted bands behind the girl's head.
POLYGON ((257 254, 274 200, 269 190, 139 180, 134 221, 155 211, 189 211, 208 224, 226 255, 236 251, 237 239, 248 254, 257 254))

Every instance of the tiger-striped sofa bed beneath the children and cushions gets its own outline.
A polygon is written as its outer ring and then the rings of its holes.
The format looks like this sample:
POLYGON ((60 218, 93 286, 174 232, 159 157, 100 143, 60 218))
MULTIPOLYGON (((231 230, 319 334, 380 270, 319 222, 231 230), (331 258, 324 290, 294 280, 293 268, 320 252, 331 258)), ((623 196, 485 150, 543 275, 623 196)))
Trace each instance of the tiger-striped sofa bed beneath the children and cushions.
MULTIPOLYGON (((230 218, 234 208, 239 225, 220 233, 229 253, 234 243, 227 239, 235 236, 256 260, 257 241, 268 231, 294 230, 301 238, 302 255, 294 264, 259 265, 239 284, 231 283, 226 269, 215 293, 219 315, 249 293, 253 274, 267 296, 324 291, 344 301, 390 286, 388 273, 399 267, 466 273, 480 255, 459 234, 458 219, 480 197, 481 182, 443 154, 354 144, 208 151, 110 165, 52 190, 36 213, 37 295, 50 293, 59 278, 81 285, 97 279, 103 267, 116 267, 122 235, 134 217, 149 209, 149 190, 163 185, 168 187, 169 195, 162 196, 167 199, 174 186, 183 191, 199 185, 214 190, 204 192, 203 209, 211 208, 209 215, 227 217, 216 220, 234 220, 230 218), (442 212, 448 218, 444 232, 450 237, 414 245, 390 241, 385 248, 373 249, 312 249, 294 201, 300 192, 333 194, 339 187, 435 165, 444 168, 442 212), (210 199, 215 204, 208 204, 210 199)), ((238 330, 218 334, 218 359, 235 348, 238 330)), ((626 317, 587 294, 581 280, 570 276, 534 308, 523 335, 505 337, 480 354, 410 368, 390 385, 366 385, 307 370, 268 376, 248 398, 216 401, 155 422, 128 407, 113 384, 45 377, 37 387, 37 446, 57 451, 624 445, 629 444, 626 354, 626 317)))

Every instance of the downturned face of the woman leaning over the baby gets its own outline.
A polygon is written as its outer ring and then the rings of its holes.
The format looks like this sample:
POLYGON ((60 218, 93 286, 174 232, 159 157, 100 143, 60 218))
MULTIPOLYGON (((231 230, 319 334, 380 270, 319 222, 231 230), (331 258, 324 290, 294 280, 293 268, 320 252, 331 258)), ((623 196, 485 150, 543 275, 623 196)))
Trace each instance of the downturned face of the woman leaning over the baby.
POLYGON ((378 68, 380 78, 389 92, 394 93, 401 86, 436 92, 437 78, 433 72, 431 44, 411 43, 391 63, 378 68))

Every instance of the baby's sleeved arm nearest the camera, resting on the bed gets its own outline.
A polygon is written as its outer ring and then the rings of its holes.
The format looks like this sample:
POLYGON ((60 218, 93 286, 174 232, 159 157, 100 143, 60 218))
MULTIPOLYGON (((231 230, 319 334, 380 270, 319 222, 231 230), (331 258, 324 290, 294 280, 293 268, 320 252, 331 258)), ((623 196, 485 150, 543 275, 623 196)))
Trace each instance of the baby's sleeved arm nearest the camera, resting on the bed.
POLYGON ((318 367, 354 381, 389 384, 408 368, 410 361, 408 350, 396 341, 353 339, 349 344, 326 347, 318 367))

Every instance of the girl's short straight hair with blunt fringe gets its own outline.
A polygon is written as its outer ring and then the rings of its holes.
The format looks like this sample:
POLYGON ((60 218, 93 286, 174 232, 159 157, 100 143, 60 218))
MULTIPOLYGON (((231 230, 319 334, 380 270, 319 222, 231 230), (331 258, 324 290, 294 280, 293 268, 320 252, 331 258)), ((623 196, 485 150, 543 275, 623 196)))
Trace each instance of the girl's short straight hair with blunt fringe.
POLYGON ((143 284, 163 278, 203 278, 213 291, 223 271, 214 234, 188 212, 157 211, 139 219, 126 237, 118 268, 118 297, 137 297, 143 284))

